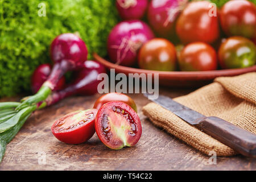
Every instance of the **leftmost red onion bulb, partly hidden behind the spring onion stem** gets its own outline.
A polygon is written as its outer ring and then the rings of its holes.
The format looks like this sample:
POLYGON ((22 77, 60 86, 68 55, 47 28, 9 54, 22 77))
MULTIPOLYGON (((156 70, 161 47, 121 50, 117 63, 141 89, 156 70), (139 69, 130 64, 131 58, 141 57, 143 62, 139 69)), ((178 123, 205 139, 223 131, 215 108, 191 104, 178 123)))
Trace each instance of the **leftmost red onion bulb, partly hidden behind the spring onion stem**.
MULTIPOLYGON (((47 80, 49 74, 51 73, 50 64, 41 64, 38 68, 35 69, 31 77, 31 89, 33 93, 38 92, 43 83, 47 80)), ((65 77, 60 78, 59 82, 55 87, 56 90, 61 90, 65 86, 65 77)))

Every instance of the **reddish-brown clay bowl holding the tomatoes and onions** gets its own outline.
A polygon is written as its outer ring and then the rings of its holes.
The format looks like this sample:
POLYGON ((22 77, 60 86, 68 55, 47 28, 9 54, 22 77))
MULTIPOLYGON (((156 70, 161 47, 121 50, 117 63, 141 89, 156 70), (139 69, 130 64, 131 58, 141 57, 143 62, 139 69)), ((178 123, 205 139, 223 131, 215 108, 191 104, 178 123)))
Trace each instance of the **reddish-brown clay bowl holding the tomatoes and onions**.
POLYGON ((193 72, 181 72, 181 71, 152 71, 147 69, 139 69, 133 67, 124 67, 121 65, 110 63, 110 61, 99 56, 97 53, 93 54, 94 59, 105 65, 108 69, 115 69, 115 73, 125 73, 125 75, 135 74, 145 74, 151 73, 154 77, 155 74, 158 75, 159 85, 161 86, 171 86, 179 88, 195 88, 209 84, 214 80, 214 78, 220 76, 237 76, 243 73, 256 72, 256 65, 249 68, 237 68, 237 69, 221 69, 213 71, 193 71, 193 72))

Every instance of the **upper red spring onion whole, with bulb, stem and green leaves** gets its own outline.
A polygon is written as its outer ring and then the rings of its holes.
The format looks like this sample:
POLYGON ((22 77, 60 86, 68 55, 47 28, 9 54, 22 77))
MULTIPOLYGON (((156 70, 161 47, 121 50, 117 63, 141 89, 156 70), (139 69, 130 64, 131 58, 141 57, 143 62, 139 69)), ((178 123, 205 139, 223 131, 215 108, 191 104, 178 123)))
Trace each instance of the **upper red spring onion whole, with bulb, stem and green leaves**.
POLYGON ((47 106, 46 100, 60 78, 68 71, 81 68, 88 56, 85 43, 75 34, 57 36, 51 44, 50 53, 54 65, 47 81, 38 92, 20 102, 0 103, 0 162, 6 145, 15 137, 28 117, 34 111, 47 106))

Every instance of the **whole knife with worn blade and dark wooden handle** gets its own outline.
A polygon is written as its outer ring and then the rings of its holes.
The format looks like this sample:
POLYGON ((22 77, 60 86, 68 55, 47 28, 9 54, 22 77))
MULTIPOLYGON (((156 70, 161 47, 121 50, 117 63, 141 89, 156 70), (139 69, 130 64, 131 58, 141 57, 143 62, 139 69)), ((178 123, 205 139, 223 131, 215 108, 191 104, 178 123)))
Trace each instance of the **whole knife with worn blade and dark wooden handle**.
MULTIPOLYGON (((146 93, 144 96, 151 100, 149 97, 150 94, 146 93)), ((229 146, 234 151, 251 158, 256 157, 255 134, 221 118, 206 117, 166 96, 159 96, 156 100, 151 101, 170 110, 185 122, 197 127, 221 143, 226 144, 226 146, 229 146)))

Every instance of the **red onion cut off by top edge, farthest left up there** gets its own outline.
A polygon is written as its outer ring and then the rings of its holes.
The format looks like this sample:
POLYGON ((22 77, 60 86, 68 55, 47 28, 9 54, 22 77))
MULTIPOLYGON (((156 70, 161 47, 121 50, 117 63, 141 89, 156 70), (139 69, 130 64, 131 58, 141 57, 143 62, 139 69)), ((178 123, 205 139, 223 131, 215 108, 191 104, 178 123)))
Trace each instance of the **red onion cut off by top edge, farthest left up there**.
POLYGON ((147 11, 148 0, 116 0, 115 4, 123 20, 142 19, 147 11))

